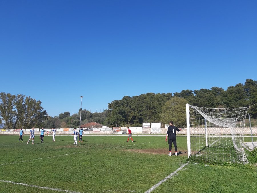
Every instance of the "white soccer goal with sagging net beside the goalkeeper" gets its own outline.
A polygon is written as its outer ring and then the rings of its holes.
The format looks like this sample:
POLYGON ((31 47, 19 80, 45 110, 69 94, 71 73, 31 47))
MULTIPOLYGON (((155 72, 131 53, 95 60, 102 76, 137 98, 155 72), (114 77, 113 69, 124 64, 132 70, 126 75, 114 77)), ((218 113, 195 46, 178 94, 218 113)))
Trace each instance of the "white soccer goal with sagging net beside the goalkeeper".
POLYGON ((204 162, 248 163, 243 148, 244 108, 204 108, 186 104, 188 158, 204 162))

